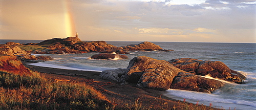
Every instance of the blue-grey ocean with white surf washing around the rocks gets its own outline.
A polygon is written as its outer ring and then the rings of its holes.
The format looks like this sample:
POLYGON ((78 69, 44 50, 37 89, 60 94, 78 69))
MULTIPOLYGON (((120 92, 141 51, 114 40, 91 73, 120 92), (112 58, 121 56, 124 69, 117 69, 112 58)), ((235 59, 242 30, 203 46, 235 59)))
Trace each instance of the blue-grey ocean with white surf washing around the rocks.
MULTIPOLYGON (((25 40, 0 40, 28 43, 25 40)), ((27 40, 40 42, 42 40, 27 40)), ((121 47, 140 42, 134 41, 106 41, 121 47)), ((224 87, 213 94, 198 93, 183 90, 169 89, 163 95, 177 100, 186 99, 191 103, 211 105, 224 109, 256 109, 256 43, 209 43, 209 42, 153 42, 163 49, 172 49, 170 52, 142 52, 135 51, 127 54, 129 59, 95 60, 90 57, 96 53, 86 54, 33 54, 52 56, 54 60, 32 63, 32 65, 73 69, 82 71, 104 71, 109 69, 126 68, 129 61, 136 56, 147 56, 160 60, 175 58, 195 58, 200 60, 222 61, 230 69, 240 71, 246 76, 244 84, 226 83, 224 87)))

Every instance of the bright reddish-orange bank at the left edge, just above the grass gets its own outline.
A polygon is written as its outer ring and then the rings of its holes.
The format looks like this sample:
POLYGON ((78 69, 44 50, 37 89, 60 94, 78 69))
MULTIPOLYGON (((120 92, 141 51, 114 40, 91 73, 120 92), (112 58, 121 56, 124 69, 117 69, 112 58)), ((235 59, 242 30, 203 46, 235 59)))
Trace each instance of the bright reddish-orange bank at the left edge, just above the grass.
POLYGON ((14 55, 4 54, 0 54, 0 71, 18 75, 32 74, 14 55))

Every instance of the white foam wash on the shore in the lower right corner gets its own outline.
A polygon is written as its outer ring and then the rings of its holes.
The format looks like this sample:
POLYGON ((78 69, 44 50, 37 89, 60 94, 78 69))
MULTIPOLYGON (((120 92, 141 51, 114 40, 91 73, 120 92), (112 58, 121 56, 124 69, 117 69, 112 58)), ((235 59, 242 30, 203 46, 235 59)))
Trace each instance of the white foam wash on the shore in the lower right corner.
POLYGON ((223 107, 225 109, 228 109, 229 107, 231 107, 236 109, 256 109, 256 101, 225 99, 225 97, 216 94, 169 89, 163 95, 178 100, 183 100, 185 98, 186 101, 195 104, 197 103, 197 101, 199 101, 200 104, 204 104, 207 106, 212 103, 212 107, 217 108, 223 107))

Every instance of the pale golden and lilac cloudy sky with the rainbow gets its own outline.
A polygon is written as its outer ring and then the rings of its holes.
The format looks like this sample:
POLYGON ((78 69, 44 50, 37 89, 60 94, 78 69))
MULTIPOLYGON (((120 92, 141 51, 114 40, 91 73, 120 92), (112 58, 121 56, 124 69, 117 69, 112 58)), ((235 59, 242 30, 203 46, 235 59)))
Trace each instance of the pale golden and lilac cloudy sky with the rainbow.
POLYGON ((256 43, 254 0, 0 0, 0 39, 256 43))

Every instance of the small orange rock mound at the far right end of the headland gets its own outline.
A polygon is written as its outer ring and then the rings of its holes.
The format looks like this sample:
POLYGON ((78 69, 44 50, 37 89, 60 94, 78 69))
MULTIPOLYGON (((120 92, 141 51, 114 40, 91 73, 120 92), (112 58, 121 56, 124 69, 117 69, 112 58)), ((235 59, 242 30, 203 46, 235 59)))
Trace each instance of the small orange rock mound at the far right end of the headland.
POLYGON ((163 50, 160 46, 155 45, 152 42, 144 41, 139 43, 138 45, 128 45, 122 47, 127 51, 153 51, 153 50, 163 50))

